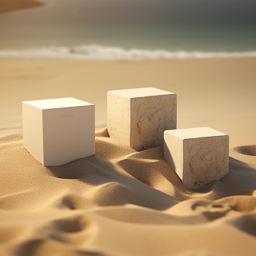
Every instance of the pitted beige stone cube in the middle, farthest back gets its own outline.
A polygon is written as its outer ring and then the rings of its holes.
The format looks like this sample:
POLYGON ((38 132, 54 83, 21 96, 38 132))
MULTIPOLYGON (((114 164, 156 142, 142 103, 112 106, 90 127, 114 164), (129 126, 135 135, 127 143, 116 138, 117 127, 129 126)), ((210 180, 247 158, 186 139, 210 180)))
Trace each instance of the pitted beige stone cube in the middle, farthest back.
POLYGON ((164 130, 176 129, 177 95, 156 88, 108 92, 110 137, 137 151, 164 145, 164 130))

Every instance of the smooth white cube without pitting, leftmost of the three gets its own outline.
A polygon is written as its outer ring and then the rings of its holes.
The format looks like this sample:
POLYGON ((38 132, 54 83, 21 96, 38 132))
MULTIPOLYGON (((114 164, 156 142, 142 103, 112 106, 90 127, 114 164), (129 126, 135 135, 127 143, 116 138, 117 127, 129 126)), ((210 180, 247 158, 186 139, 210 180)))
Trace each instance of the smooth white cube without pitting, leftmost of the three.
POLYGON ((22 101, 23 142, 44 166, 95 153, 94 104, 74 98, 22 101))

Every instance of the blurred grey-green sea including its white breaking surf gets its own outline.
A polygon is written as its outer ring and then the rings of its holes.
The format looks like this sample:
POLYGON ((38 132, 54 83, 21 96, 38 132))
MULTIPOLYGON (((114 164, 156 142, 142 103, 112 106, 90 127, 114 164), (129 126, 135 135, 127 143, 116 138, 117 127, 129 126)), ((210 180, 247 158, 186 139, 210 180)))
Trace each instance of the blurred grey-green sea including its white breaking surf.
POLYGON ((0 15, 0 57, 256 56, 255 0, 43 0, 0 15))

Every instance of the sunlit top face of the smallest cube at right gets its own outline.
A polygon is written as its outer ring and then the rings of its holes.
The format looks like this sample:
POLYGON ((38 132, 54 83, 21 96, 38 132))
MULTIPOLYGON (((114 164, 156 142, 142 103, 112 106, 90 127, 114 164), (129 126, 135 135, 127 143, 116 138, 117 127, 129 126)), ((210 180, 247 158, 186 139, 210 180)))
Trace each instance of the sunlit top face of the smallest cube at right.
POLYGON ((166 130, 164 132, 166 134, 173 135, 180 139, 196 139, 196 138, 203 138, 203 137, 228 136, 223 132, 219 132, 218 130, 214 130, 209 127, 166 130))

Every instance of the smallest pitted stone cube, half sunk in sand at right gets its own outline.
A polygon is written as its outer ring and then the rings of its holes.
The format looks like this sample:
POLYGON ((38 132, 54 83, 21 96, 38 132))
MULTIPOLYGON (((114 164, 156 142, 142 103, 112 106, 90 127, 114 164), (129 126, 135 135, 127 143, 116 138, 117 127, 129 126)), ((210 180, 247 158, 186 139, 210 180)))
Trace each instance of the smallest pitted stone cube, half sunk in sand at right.
POLYGON ((184 186, 203 189, 229 172, 229 136, 209 127, 166 130, 164 159, 184 186))

